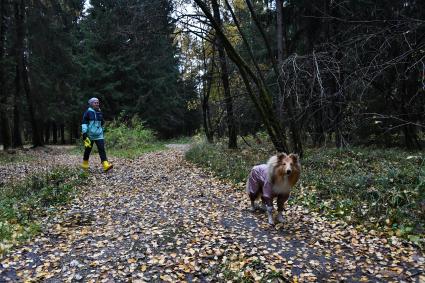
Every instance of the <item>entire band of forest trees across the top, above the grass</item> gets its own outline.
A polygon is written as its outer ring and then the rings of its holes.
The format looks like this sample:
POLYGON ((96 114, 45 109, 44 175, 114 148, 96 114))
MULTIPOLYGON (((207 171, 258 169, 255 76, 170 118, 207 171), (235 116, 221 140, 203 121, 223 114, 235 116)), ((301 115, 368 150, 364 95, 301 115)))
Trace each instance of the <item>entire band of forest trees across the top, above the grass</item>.
POLYGON ((163 138, 421 149, 424 15, 414 0, 1 0, 0 140, 74 142, 95 96, 163 138))

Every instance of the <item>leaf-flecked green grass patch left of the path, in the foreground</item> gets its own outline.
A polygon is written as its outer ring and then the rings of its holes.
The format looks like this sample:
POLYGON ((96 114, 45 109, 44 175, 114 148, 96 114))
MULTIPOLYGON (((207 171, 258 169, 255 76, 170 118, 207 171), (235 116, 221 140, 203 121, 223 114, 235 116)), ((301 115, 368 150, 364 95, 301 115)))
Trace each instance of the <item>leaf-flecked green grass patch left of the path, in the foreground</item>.
POLYGON ((55 168, 0 186, 0 256, 40 231, 40 219, 68 203, 86 174, 55 168))

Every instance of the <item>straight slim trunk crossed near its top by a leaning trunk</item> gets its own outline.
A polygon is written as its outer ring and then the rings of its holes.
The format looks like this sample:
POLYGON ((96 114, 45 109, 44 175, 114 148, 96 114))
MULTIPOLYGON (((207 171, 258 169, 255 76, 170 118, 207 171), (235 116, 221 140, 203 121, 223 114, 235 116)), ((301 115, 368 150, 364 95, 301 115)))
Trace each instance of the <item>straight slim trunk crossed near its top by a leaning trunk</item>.
MULTIPOLYGON (((217 3, 217 0, 211 1, 213 7, 213 14, 215 21, 221 27, 221 18, 220 18, 220 9, 217 3)), ((218 57, 220 61, 220 69, 221 69, 221 80, 223 82, 224 89, 224 102, 226 104, 227 111, 227 130, 229 134, 229 148, 237 148, 237 135, 236 135, 236 125, 235 118, 233 116, 233 101, 232 96, 230 94, 230 83, 229 83, 229 73, 227 70, 227 60, 226 53, 224 51, 224 47, 222 44, 222 40, 219 36, 216 37, 216 45, 218 50, 218 57)))

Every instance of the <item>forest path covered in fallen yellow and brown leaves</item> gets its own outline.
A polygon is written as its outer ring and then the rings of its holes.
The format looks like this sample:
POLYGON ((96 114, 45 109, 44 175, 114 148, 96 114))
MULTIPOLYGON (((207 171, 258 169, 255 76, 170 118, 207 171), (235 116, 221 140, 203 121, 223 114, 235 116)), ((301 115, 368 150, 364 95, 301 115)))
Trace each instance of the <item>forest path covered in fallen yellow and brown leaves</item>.
MULTIPOLYGON (((183 149, 113 159, 107 174, 94 157, 91 185, 1 259, 0 282, 425 280, 423 253, 395 237, 360 234, 299 206, 287 207, 284 225, 269 226, 248 211, 241 188, 185 162, 183 149)), ((44 162, 28 167, 79 162, 58 152, 36 157, 44 162)))

